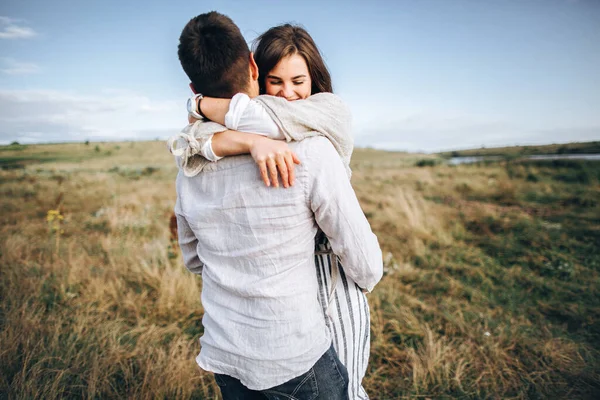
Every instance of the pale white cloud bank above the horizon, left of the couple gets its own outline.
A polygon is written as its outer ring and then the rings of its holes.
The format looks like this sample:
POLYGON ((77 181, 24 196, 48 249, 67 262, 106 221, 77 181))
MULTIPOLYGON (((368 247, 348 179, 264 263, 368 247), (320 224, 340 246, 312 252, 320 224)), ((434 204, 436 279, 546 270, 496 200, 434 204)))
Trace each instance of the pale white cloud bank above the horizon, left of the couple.
POLYGON ((135 92, 0 90, 0 143, 167 138, 186 123, 183 102, 135 92))

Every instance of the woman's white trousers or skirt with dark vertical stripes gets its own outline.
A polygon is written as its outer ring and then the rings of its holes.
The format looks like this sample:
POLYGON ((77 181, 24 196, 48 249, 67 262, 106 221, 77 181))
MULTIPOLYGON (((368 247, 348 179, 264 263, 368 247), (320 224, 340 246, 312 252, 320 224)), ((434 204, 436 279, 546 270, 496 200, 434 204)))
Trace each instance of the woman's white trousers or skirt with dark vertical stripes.
POLYGON ((344 273, 322 232, 317 235, 315 265, 325 322, 338 357, 348 370, 348 397, 368 399, 361 382, 369 363, 369 303, 363 291, 344 273))

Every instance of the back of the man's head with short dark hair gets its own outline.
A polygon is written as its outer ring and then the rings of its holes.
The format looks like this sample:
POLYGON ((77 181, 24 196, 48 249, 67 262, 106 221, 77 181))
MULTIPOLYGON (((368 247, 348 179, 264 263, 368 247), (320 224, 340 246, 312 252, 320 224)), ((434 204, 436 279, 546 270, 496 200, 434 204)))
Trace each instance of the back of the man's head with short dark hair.
POLYGON ((192 18, 181 32, 177 54, 197 92, 228 98, 247 91, 250 50, 228 16, 211 11, 192 18))

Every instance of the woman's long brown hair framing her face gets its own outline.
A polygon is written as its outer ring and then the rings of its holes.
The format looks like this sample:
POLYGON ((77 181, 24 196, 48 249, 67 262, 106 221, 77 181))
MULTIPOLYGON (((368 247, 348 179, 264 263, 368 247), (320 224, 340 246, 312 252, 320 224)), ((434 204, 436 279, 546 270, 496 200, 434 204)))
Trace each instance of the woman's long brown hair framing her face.
POLYGON ((261 93, 265 93, 265 77, 269 72, 282 58, 293 54, 301 55, 306 61, 312 82, 311 94, 333 93, 329 70, 306 29, 290 24, 275 26, 256 38, 253 47, 261 93))

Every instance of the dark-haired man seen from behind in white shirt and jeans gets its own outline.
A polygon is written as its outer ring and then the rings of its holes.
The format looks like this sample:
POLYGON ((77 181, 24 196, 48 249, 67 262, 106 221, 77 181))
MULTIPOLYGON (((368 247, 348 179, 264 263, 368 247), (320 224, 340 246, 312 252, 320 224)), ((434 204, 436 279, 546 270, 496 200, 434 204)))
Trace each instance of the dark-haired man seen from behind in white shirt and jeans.
MULTIPOLYGON (((258 68, 224 15, 192 19, 182 32, 179 57, 197 92, 258 95, 258 68)), ((347 398, 348 378, 317 298, 318 227, 358 285, 371 290, 381 278, 377 238, 332 144, 316 137, 291 146, 303 162, 295 184, 285 190, 264 186, 249 156, 177 177, 184 262, 203 277, 204 335, 197 361, 215 373, 225 399, 347 398)))

